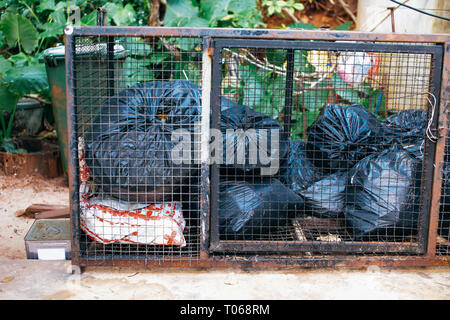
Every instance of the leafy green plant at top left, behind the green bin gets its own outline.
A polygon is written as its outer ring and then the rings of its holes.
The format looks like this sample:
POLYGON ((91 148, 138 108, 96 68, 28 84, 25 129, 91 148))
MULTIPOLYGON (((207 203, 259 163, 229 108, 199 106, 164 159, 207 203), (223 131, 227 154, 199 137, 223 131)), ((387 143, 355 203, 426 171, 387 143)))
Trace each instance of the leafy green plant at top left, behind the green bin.
POLYGON ((95 25, 97 7, 108 10, 109 24, 133 25, 145 19, 144 10, 136 14, 133 6, 137 5, 142 6, 139 0, 126 5, 119 0, 0 0, 0 149, 23 151, 14 147, 12 139, 20 98, 38 95, 50 100, 40 58, 45 49, 62 42, 64 27, 95 25))

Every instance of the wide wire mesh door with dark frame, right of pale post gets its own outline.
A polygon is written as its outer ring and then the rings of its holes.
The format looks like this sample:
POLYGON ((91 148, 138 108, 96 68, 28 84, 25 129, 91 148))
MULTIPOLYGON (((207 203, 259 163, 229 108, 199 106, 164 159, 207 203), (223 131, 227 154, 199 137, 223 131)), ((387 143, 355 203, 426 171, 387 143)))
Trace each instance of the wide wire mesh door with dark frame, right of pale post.
POLYGON ((213 251, 424 252, 441 48, 214 50, 213 251))

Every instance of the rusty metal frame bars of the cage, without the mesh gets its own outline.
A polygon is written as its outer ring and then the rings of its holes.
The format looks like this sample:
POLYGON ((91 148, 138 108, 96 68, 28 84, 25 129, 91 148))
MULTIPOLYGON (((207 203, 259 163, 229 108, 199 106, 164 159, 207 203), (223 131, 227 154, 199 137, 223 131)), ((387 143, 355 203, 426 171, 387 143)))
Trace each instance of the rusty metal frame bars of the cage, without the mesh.
MULTIPOLYGON (((244 268, 244 269, 267 269, 267 268, 295 268, 295 267, 347 267, 360 268, 369 265, 387 267, 413 267, 413 266, 450 266, 450 256, 436 255, 437 229, 439 223, 439 207, 442 188, 442 173, 444 163, 445 144, 448 130, 448 106, 450 98, 450 36, 448 34, 414 35, 414 34, 379 34, 354 31, 311 31, 311 30, 268 30, 268 29, 228 29, 228 28, 166 28, 166 27, 66 27, 66 97, 69 130, 69 163, 68 178, 70 187, 70 206, 72 221, 72 264, 78 267, 86 266, 132 266, 132 267, 173 267, 173 268, 244 268), (201 192, 200 192, 200 254, 197 259, 191 260, 185 257, 176 259, 158 260, 148 258, 137 259, 86 259, 80 251, 80 221, 79 221, 79 165, 77 147, 77 110, 75 102, 75 38, 82 36, 102 36, 107 39, 107 50, 109 57, 113 54, 114 37, 196 37, 203 39, 202 53, 202 118, 203 128, 214 126, 217 121, 218 112, 214 108, 219 93, 217 92, 217 81, 220 76, 214 70, 220 70, 221 47, 232 44, 239 46, 242 40, 249 40, 252 45, 278 46, 284 48, 309 48, 320 46, 320 42, 335 42, 334 46, 342 48, 361 49, 367 47, 372 51, 384 49, 397 49, 399 52, 431 53, 435 55, 437 65, 432 69, 432 88, 434 94, 439 97, 438 112, 433 119, 433 127, 439 139, 436 144, 427 144, 426 148, 433 156, 433 162, 426 162, 426 178, 424 186, 426 199, 422 221, 419 230, 419 244, 401 245, 389 244, 383 247, 382 252, 403 253, 402 255, 374 255, 361 256, 357 252, 366 249, 374 249, 370 243, 353 245, 342 245, 339 248, 320 245, 324 252, 333 253, 327 256, 286 258, 258 255, 258 244, 249 244, 238 251, 251 251, 251 255, 217 255, 217 251, 227 248, 219 241, 216 235, 218 228, 217 220, 211 212, 217 210, 217 168, 208 164, 208 142, 209 133, 206 131, 201 138, 201 192), (296 42, 291 40, 315 40, 315 42, 296 42), (320 42, 318 42, 320 41, 320 42), (347 43, 342 43, 347 42, 347 43), (355 43, 359 42, 359 43, 355 43), (384 44, 383 44, 384 43, 384 44), (413 44, 428 44, 413 45, 413 44), (429 45, 432 44, 432 45, 429 45), (378 48, 378 49, 377 49, 378 48), (439 86, 440 84, 440 86, 439 86), (210 112, 212 115, 210 116, 210 112), (387 250, 387 251, 386 251, 387 250), (255 253, 256 252, 256 253, 255 253), (342 254, 342 253, 348 253, 342 254)), ((109 69, 109 76, 113 68, 109 69)), ((110 81, 111 82, 111 81, 110 81)), ((220 82, 219 82, 220 83, 220 82)), ((110 89, 114 84, 108 84, 110 89)), ((431 160, 431 159, 428 159, 431 160)), ((239 246, 239 244, 237 244, 239 246)), ((317 249, 316 243, 293 243, 283 246, 279 243, 271 245, 271 249, 280 251, 311 251, 317 249), (289 247, 289 248, 288 248, 289 247), (286 250, 288 248, 288 250, 286 250)), ((379 244, 377 245, 379 246, 379 244)), ((231 244, 236 248, 236 244, 231 244)))

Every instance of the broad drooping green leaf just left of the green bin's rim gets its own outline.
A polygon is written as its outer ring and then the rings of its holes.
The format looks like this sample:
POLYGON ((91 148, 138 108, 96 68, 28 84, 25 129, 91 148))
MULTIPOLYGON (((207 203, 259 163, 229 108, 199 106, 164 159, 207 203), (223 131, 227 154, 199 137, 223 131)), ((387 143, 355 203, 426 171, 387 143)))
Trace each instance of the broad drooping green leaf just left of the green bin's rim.
POLYGON ((47 72, 43 64, 14 68, 6 74, 5 82, 9 83, 11 92, 21 96, 48 89, 47 72))

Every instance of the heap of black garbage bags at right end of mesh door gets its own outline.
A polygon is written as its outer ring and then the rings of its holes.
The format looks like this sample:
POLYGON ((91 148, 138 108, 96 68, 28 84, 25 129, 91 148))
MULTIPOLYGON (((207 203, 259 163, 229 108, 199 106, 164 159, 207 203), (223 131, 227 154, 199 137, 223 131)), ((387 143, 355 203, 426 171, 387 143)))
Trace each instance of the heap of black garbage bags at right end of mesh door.
POLYGON ((304 199, 303 214, 336 219, 355 240, 412 234, 426 125, 423 110, 380 121, 361 105, 328 105, 308 128, 307 142, 297 142, 306 157, 290 149, 289 164, 302 168, 288 168, 291 176, 282 181, 304 199), (307 183, 298 188, 296 179, 307 183))

